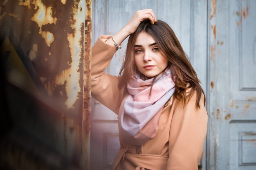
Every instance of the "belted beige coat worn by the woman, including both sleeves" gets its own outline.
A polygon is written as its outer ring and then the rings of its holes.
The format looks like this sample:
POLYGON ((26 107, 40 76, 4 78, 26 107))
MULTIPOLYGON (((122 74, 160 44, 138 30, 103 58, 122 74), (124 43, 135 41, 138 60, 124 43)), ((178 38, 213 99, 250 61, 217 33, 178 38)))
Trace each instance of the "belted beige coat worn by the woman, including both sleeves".
MULTIPOLYGON (((125 96, 118 90, 118 78, 104 72, 117 48, 101 36, 92 47, 92 96, 117 115, 125 96)), ((203 96, 203 95, 202 95, 203 96)), ((159 119, 157 135, 142 146, 120 139, 120 151, 112 165, 116 170, 197 170, 207 133, 204 98, 195 108, 196 94, 183 105, 173 97, 166 103, 159 119)))

